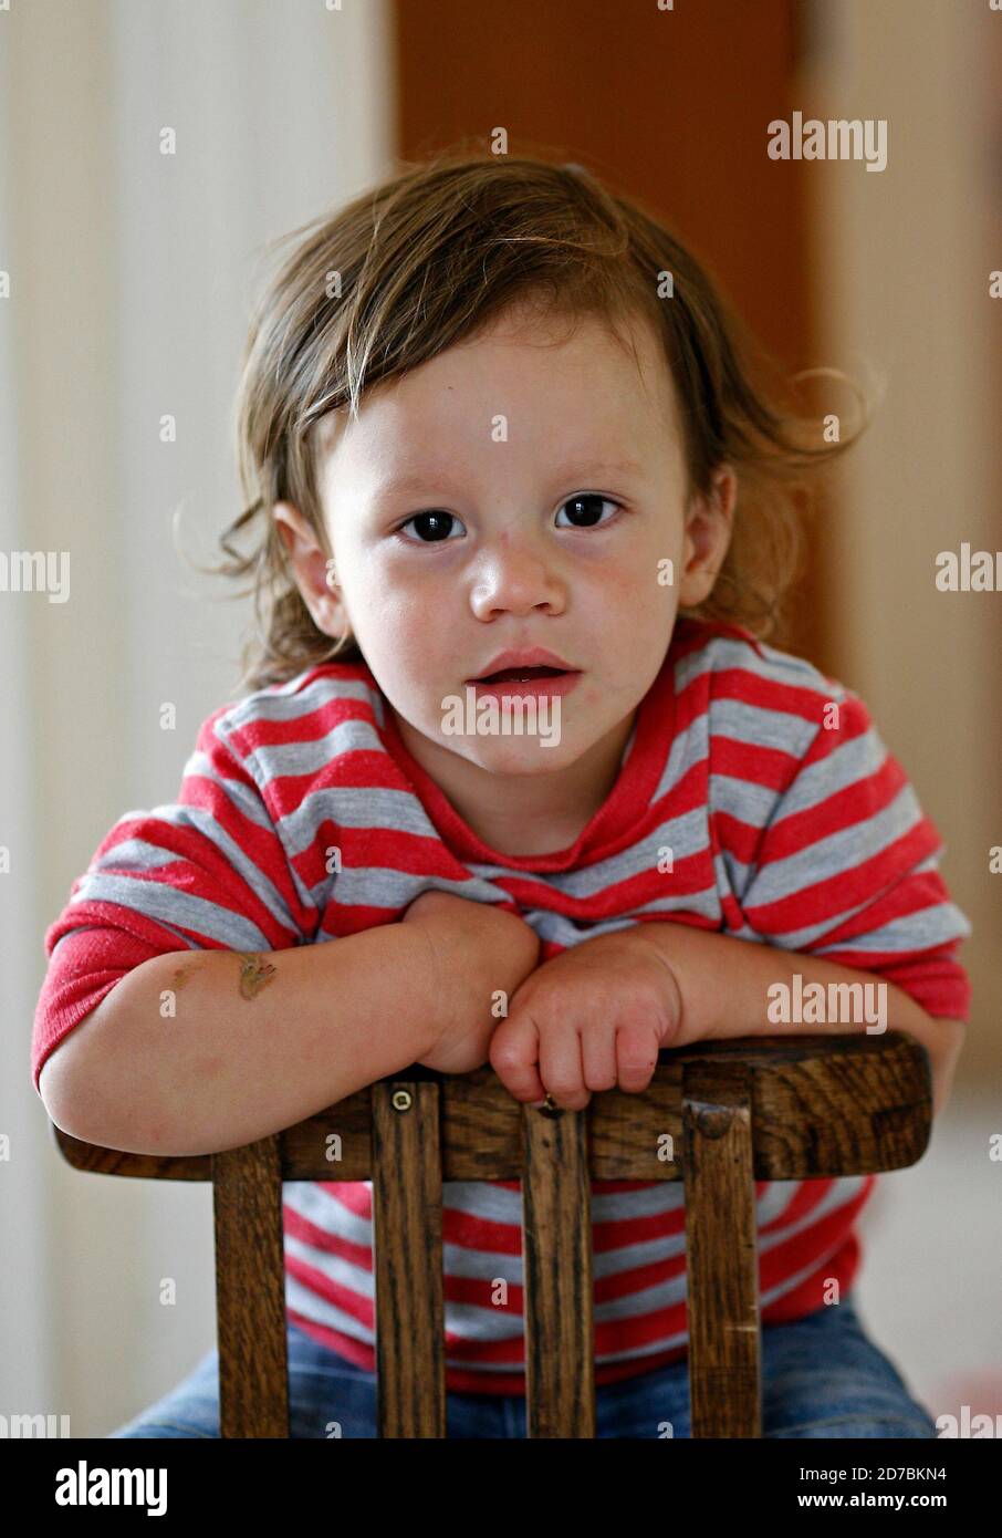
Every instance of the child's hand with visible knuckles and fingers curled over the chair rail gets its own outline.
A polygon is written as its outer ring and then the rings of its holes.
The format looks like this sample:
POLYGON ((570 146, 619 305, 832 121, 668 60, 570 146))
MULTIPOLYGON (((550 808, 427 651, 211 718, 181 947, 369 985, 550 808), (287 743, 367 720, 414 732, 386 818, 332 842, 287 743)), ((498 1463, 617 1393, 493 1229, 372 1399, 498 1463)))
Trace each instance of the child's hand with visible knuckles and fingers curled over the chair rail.
POLYGON ((595 1089, 647 1089, 658 1050, 678 1034, 682 997, 642 930, 582 940, 518 989, 490 1041, 490 1066, 516 1100, 549 1092, 582 1110, 595 1089))

